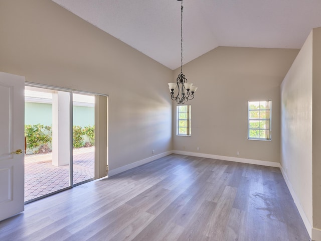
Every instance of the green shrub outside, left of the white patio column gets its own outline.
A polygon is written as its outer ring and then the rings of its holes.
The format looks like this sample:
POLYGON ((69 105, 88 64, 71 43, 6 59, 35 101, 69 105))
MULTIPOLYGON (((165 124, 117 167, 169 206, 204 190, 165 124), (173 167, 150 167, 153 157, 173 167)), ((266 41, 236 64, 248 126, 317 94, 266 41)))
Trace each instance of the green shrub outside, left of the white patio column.
POLYGON ((52 142, 52 131, 50 126, 25 125, 25 136, 27 139, 27 148, 32 150, 36 147, 52 142))

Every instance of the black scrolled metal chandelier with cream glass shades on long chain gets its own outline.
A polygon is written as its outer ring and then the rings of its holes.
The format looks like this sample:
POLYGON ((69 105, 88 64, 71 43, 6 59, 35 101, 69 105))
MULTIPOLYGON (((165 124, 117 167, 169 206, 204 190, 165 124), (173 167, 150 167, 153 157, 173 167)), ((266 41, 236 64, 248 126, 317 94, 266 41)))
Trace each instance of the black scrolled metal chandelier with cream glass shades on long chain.
POLYGON ((193 83, 188 83, 187 78, 183 74, 183 0, 177 0, 182 2, 181 6, 181 73, 176 79, 176 83, 169 83, 169 89, 171 91, 171 98, 178 104, 184 104, 189 99, 194 99, 194 93, 197 89, 193 86, 193 83))

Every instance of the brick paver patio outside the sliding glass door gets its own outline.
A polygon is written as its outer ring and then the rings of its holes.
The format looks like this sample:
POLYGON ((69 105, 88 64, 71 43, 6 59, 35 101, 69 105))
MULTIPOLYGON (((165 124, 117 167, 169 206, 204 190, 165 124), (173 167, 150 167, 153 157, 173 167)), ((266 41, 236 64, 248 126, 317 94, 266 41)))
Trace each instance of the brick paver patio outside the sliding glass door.
MULTIPOLYGON (((73 150, 73 183, 94 177, 95 147, 73 150)), ((25 201, 69 186, 69 165, 52 165, 52 153, 25 156, 25 201)))

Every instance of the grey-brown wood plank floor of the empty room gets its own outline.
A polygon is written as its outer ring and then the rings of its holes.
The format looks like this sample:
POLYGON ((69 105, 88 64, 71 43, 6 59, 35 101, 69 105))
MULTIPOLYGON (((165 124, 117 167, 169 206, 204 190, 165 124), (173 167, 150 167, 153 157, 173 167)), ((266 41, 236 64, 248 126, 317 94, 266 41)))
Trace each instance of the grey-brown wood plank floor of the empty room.
POLYGON ((170 155, 27 204, 0 240, 308 241, 278 168, 170 155))

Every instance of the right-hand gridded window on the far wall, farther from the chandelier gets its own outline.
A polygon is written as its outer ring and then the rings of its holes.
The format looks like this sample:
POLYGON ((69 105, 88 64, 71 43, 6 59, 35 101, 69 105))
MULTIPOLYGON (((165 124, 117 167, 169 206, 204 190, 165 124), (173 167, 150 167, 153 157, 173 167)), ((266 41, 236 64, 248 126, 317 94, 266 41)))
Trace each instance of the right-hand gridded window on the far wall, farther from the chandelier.
POLYGON ((248 139, 271 141, 272 100, 248 102, 248 139))

